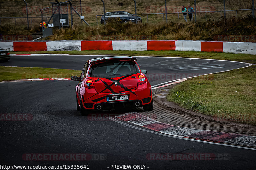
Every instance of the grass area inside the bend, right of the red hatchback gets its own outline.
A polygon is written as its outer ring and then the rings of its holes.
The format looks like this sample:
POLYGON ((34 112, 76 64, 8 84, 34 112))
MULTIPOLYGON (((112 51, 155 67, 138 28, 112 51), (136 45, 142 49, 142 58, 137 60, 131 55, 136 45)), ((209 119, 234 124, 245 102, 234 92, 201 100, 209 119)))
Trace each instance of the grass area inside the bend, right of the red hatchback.
POLYGON ((256 66, 200 76, 176 85, 167 100, 204 115, 256 125, 256 66))

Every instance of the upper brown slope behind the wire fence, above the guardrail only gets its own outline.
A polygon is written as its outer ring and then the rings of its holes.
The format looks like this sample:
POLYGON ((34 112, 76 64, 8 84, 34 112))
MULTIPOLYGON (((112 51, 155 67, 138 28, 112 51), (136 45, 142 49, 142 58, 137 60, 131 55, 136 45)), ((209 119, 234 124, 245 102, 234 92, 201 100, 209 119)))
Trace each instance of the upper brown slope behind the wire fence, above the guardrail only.
MULTIPOLYGON (((54 0, 27 0, 28 3, 28 15, 29 17, 41 17, 40 9, 51 6, 51 2, 55 2, 54 0)), ((134 9, 134 1, 133 0, 105 0, 105 12, 108 11, 128 11, 130 13, 135 13, 134 9)), ((165 6, 164 0, 137 0, 137 13, 164 13, 165 6)), ((92 26, 96 25, 96 15, 103 14, 103 3, 101 0, 71 0, 74 8, 84 15, 85 20, 92 26)), ((194 8, 194 0, 167 0, 167 12, 180 12, 181 5, 188 4, 194 8)), ((4 6, 5 8, 1 8, 0 16, 1 17, 26 17, 26 5, 22 0, 6 0, 1 1, 0 6, 4 6)), ((254 2, 254 6, 256 8, 256 1, 254 2)), ((235 9, 250 9, 252 8, 252 0, 226 0, 226 10, 235 10, 235 9)), ((223 0, 197 0, 196 1, 196 9, 197 11, 219 11, 223 10, 223 0)), ((49 8, 43 11, 44 17, 50 17, 54 8, 49 8)), ((67 6, 62 6, 61 12, 63 14, 70 13, 70 8, 67 6)), ((227 11, 226 16, 245 16, 252 11, 227 11)), ((221 12, 212 12, 207 13, 207 19, 219 18, 223 13, 221 12)), ((147 22, 147 15, 140 15, 142 17, 143 22, 147 22)), ((168 14, 167 18, 172 22, 184 22, 182 15, 178 14, 168 14)), ((70 19, 70 16, 69 16, 70 19)), ((16 20, 16 25, 26 25, 27 18, 1 18, 1 25, 11 24, 14 25, 16 20)), ((30 18, 29 24, 31 26, 38 26, 41 18, 30 18)), ((100 21, 100 17, 98 17, 98 21, 100 21)), ((197 13, 197 21, 205 21, 205 13, 197 13)), ((163 19, 162 14, 158 15, 148 15, 149 23, 157 23, 157 22, 165 22, 165 18, 163 19)), ((81 20, 78 18, 76 14, 74 14, 74 24, 81 25, 81 20)))

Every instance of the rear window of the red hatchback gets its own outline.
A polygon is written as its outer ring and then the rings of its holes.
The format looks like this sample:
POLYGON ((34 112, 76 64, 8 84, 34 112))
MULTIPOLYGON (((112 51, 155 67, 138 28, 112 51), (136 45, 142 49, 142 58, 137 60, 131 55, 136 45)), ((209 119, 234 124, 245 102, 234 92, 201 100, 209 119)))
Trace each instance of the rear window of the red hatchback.
POLYGON ((108 61, 93 64, 89 77, 115 78, 139 73, 138 65, 133 61, 108 61))

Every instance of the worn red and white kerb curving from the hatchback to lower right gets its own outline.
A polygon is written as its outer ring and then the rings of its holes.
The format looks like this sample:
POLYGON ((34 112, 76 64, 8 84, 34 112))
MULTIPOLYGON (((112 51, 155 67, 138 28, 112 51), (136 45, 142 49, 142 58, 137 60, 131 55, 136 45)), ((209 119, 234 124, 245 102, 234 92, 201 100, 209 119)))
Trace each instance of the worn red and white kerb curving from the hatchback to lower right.
POLYGON ((119 120, 130 122, 170 136, 256 148, 256 137, 254 136, 173 126, 158 122, 137 112, 130 112, 115 117, 119 120))

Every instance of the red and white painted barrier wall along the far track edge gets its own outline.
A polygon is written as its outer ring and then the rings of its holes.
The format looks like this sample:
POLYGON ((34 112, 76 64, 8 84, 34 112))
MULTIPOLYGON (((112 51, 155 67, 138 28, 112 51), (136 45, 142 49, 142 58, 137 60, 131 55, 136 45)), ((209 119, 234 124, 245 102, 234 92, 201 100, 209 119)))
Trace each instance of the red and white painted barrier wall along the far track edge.
POLYGON ((222 41, 0 41, 1 48, 10 51, 60 51, 60 50, 175 50, 228 52, 256 55, 254 42, 222 41))

